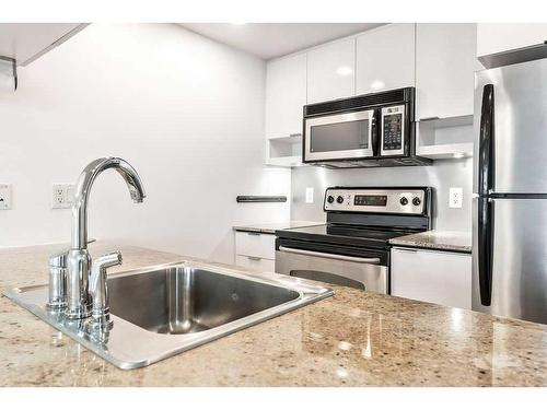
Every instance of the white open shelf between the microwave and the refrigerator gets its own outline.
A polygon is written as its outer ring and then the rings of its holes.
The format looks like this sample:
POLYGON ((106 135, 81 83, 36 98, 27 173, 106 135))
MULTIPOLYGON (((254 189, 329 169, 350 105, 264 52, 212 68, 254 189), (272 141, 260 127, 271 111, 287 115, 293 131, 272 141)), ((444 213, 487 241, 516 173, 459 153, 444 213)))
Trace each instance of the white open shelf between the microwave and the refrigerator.
POLYGON ((473 116, 435 118, 417 124, 416 153, 431 160, 473 156, 473 116))

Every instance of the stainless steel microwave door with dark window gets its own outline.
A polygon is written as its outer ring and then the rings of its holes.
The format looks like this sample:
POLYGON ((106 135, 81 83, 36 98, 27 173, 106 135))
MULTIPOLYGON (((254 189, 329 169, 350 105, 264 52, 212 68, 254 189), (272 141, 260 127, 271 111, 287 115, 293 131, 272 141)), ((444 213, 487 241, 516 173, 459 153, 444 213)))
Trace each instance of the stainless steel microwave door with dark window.
POLYGON ((374 156, 375 110, 304 119, 304 162, 374 156))

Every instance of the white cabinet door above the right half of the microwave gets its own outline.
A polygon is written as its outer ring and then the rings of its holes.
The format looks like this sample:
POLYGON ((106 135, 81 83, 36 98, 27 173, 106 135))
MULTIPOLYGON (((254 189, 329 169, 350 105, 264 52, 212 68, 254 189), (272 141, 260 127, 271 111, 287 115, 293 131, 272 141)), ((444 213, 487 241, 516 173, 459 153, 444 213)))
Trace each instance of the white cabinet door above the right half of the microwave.
POLYGON ((415 85, 415 24, 388 24, 357 37, 357 94, 415 85))

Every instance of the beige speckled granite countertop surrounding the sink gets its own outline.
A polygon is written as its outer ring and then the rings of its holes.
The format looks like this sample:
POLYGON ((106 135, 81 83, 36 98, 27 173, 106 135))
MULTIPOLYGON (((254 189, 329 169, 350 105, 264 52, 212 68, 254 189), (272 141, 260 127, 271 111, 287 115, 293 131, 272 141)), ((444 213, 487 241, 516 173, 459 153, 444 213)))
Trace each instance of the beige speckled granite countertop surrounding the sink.
MULTIPOLYGON (((66 246, 65 246, 66 247, 66 246)), ((63 246, 0 249, 0 290, 44 283, 63 246)), ((189 260, 120 249, 124 267, 189 260)), ((0 298, 1 386, 547 386, 547 326, 330 286, 333 297, 123 371, 0 298)))

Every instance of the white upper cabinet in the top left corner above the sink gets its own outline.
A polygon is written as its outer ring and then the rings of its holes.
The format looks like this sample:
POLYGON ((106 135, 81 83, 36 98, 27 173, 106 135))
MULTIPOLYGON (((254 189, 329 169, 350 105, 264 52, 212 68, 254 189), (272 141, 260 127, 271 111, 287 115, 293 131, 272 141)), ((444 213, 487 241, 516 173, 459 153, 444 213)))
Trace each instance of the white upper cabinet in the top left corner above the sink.
POLYGON ((2 23, 0 56, 26 66, 85 27, 78 23, 2 23))

